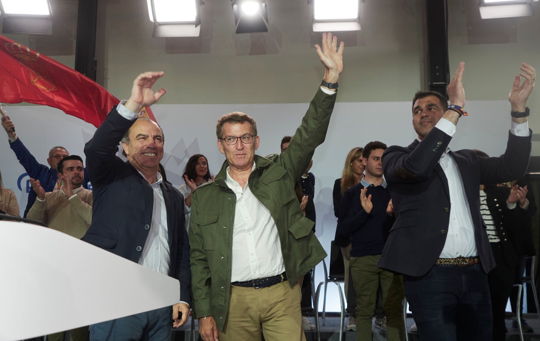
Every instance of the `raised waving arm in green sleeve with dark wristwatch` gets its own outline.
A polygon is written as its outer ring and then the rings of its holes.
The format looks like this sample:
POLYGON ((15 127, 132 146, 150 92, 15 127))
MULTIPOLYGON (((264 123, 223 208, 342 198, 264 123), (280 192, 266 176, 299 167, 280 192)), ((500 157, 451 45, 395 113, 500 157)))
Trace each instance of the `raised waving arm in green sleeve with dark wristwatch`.
POLYGON ((315 148, 325 141, 336 97, 336 89, 332 88, 330 84, 337 84, 343 71, 344 46, 345 44, 341 42, 338 49, 338 38, 332 37, 330 33, 322 35, 322 49, 319 45, 315 45, 317 55, 325 66, 325 77, 323 78, 325 83, 323 84, 329 84, 322 86, 325 91, 319 87, 309 104, 306 115, 302 118, 301 125, 296 129, 291 139, 291 144, 279 157, 282 166, 294 182, 298 181, 308 168, 315 148))

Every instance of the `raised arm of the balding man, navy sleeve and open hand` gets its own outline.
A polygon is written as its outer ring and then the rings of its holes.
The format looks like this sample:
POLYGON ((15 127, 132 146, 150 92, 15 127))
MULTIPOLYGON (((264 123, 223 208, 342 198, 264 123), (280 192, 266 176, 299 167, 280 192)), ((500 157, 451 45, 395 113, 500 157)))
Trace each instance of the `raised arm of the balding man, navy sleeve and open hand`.
POLYGON ((152 91, 152 85, 163 76, 163 71, 141 73, 133 81, 131 97, 124 104, 115 106, 99 126, 92 139, 86 143, 86 171, 96 188, 114 178, 117 146, 130 129, 138 113, 165 95, 166 90, 152 91))

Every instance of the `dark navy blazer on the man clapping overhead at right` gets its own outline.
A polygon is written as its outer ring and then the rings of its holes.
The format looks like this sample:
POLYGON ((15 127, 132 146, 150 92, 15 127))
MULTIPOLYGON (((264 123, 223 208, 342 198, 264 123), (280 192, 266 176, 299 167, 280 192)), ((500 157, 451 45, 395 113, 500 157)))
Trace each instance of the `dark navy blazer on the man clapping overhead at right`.
MULTIPOLYGON (((478 157, 473 150, 450 151, 461 173, 473 218, 478 257, 488 273, 495 268, 480 213, 480 184, 517 179, 529 165, 532 131, 528 137, 509 133, 502 157, 478 157)), ((450 221, 448 179, 438 163, 452 138, 433 128, 408 147, 390 146, 382 155, 396 221, 384 245, 379 268, 409 276, 422 276, 435 264, 446 243, 450 221)))

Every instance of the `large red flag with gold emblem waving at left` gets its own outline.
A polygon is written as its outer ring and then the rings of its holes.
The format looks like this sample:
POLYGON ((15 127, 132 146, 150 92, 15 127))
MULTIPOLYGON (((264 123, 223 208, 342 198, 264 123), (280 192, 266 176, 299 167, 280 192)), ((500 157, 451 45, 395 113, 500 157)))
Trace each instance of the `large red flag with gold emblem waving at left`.
MULTIPOLYGON (((82 73, 0 35, 0 102, 52 106, 98 127, 120 101, 82 73)), ((145 109, 141 115, 156 121, 145 109)))

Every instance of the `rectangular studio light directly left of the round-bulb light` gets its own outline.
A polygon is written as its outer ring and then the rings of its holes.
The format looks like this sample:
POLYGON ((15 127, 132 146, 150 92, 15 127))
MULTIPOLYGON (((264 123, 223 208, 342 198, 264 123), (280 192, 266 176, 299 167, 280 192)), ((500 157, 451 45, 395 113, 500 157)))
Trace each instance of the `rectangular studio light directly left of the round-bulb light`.
POLYGON ((146 0, 153 37, 198 37, 200 0, 146 0))

